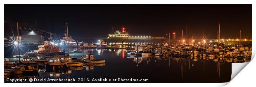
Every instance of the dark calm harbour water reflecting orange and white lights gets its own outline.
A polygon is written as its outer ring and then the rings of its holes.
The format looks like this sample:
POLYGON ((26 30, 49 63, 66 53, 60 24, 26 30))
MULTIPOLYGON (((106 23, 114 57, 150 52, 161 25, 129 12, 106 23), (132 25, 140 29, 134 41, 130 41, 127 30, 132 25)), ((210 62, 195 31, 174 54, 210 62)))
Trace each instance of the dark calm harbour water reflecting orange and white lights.
MULTIPOLYGON (((7 78, 74 78, 75 81, 73 82, 78 82, 78 78, 85 78, 85 80, 86 78, 90 80, 92 78, 148 79, 146 82, 228 82, 231 78, 231 62, 228 62, 228 60, 193 59, 190 57, 128 57, 126 50, 111 49, 78 50, 76 53, 70 53, 69 55, 81 59, 81 55, 86 55, 87 53, 95 54, 95 58, 97 59, 105 59, 106 63, 97 65, 87 64, 83 67, 57 70, 40 67, 37 75, 5 76, 5 82, 7 82, 7 78)), ((12 61, 15 59, 10 58, 9 60, 12 61)))

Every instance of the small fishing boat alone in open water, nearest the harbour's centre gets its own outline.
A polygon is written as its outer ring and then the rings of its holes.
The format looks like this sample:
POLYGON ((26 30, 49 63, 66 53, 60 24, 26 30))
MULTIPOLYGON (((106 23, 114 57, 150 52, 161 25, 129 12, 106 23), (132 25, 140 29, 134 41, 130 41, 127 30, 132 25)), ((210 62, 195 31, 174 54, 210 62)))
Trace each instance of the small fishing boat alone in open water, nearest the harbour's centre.
POLYGON ((94 54, 87 54, 85 57, 82 56, 84 62, 87 63, 105 63, 105 59, 94 59, 94 54))

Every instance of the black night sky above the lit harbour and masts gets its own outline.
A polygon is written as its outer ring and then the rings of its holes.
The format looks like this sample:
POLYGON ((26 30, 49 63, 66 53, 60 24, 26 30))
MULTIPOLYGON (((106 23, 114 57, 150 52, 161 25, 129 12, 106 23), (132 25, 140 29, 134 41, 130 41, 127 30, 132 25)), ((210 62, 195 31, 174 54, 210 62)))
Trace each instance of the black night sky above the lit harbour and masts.
POLYGON ((61 35, 69 23, 74 39, 107 37, 111 27, 122 26, 133 35, 176 32, 178 38, 187 26, 187 36, 215 39, 221 23, 221 37, 236 39, 242 30, 242 38, 251 39, 251 16, 251 5, 5 5, 5 32, 16 21, 37 20, 40 29, 61 35))

